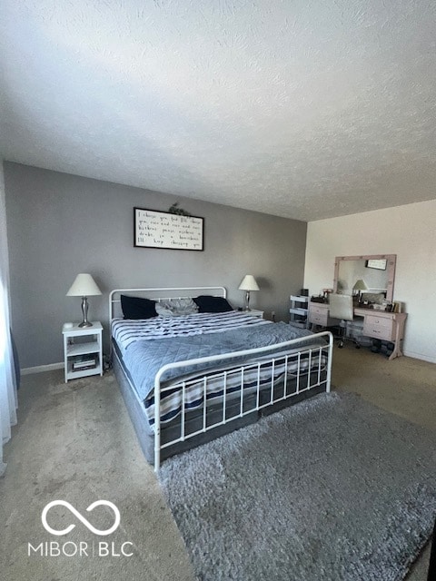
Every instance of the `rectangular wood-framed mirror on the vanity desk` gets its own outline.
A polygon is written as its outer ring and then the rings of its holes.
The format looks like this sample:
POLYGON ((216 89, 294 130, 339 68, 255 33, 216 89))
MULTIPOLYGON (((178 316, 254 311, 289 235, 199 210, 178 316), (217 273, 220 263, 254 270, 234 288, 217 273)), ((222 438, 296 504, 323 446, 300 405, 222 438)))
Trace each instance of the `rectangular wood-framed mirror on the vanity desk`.
POLYGON ((334 261, 333 291, 342 294, 362 293, 377 301, 377 296, 393 300, 396 254, 337 256, 334 261))

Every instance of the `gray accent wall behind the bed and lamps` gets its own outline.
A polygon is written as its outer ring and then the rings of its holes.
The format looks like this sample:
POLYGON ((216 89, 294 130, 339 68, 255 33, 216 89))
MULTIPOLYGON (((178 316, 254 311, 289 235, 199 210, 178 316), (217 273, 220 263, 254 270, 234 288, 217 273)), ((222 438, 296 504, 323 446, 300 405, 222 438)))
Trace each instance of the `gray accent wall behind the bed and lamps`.
POLYGON ((114 288, 227 288, 233 306, 243 275, 261 291, 252 307, 288 320, 289 294, 300 291, 306 223, 67 173, 5 162, 12 324, 22 368, 63 360, 61 328, 80 320, 80 299, 66 297, 77 273, 90 272, 103 297, 90 297, 89 319, 108 333, 114 288), (133 246, 134 206, 167 211, 179 202, 204 218, 204 251, 133 246))

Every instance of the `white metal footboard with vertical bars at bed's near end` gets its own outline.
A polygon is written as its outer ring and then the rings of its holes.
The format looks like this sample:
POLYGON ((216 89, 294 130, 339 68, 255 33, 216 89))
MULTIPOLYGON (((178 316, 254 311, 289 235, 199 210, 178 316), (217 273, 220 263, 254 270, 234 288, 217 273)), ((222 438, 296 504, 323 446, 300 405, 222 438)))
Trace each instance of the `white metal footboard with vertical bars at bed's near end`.
POLYGON ((272 406, 272 404, 280 400, 291 399, 292 397, 302 394, 304 391, 321 386, 323 386, 326 391, 330 391, 332 379, 332 347, 332 333, 330 331, 323 331, 307 337, 285 341, 254 350, 241 350, 232 353, 213 355, 207 358, 177 361, 164 365, 159 369, 154 380, 154 470, 157 472, 160 468, 161 450, 163 450, 163 448, 168 448, 177 442, 193 438, 202 432, 217 428, 218 426, 222 426, 223 424, 235 419, 243 418, 243 416, 252 413, 253 411, 272 406), (313 340, 319 339, 324 339, 325 344, 311 345, 313 340), (298 349, 294 348, 296 343, 299 344, 298 349), (307 345, 302 346, 301 343, 307 343, 307 345), (270 353, 271 356, 269 356, 270 353), (216 362, 220 365, 220 368, 223 368, 226 361, 231 363, 232 359, 240 358, 250 358, 250 361, 245 363, 241 361, 239 363, 236 362, 235 364, 232 363, 228 369, 219 369, 217 371, 211 370, 210 375, 206 372, 206 374, 203 374, 201 378, 198 377, 201 373, 198 373, 197 377, 193 379, 183 379, 181 381, 176 380, 175 384, 172 382, 168 387, 165 387, 164 385, 164 375, 173 369, 177 369, 178 374, 180 373, 180 375, 183 375, 183 369, 192 369, 193 366, 203 366, 204 364, 209 365, 216 362), (253 360, 256 358, 258 360, 253 360), (266 373, 263 373, 264 369, 267 369, 266 373), (239 388, 233 388, 233 404, 234 394, 236 394, 236 398, 240 398, 240 409, 239 413, 228 418, 226 414, 227 401, 229 399, 227 385, 230 374, 235 377, 238 374, 241 376, 239 388), (247 375, 250 375, 252 384, 254 376, 254 383, 256 384, 254 388, 245 388, 244 377, 247 375), (288 390, 290 379, 292 379, 292 389, 288 390), (214 381, 215 384, 217 381, 220 381, 223 386, 222 419, 213 422, 213 424, 208 423, 207 416, 208 387, 211 381, 214 381), (203 383, 203 426, 189 433, 185 433, 185 420, 189 413, 186 409, 187 393, 192 388, 193 384, 195 384, 195 389, 198 393, 198 384, 200 382, 203 383), (268 384, 271 386, 269 398, 266 395, 268 393, 268 384), (164 395, 165 390, 173 390, 176 388, 180 389, 182 398, 180 409, 180 436, 171 441, 162 443, 162 396, 164 395), (255 394, 255 402, 253 405, 249 405, 248 407, 244 406, 244 400, 247 395, 253 395, 253 393, 255 394), (261 394, 262 399, 265 399, 266 395, 266 401, 261 399, 261 394))

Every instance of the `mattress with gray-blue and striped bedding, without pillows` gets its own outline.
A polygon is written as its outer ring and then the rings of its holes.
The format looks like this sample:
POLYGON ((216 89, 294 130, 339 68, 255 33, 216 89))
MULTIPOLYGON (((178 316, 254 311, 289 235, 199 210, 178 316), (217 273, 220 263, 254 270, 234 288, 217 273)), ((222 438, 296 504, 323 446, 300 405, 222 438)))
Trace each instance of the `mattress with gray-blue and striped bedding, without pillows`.
MULTIPOLYGON (((311 331, 291 327, 285 323, 272 324, 246 313, 237 311, 200 313, 185 317, 151 320, 114 320, 113 337, 126 375, 134 386, 136 397, 144 402, 146 417, 150 426, 154 425, 154 377, 167 363, 195 358, 216 356, 240 350, 272 346, 288 340, 298 340, 292 346, 286 364, 275 365, 272 369, 271 355, 266 358, 232 358, 220 365, 206 362, 191 365, 178 371, 171 370, 163 379, 163 392, 160 397, 161 422, 169 422, 181 413, 203 408, 203 402, 212 406, 221 403, 223 398, 237 398, 241 391, 241 376, 230 373, 223 386, 223 369, 235 365, 248 365, 243 378, 243 397, 259 391, 274 382, 280 382, 283 374, 296 372, 297 369, 321 369, 327 359, 325 341, 315 339, 320 347, 318 354, 307 358, 297 355, 302 345, 307 345, 311 331), (292 355, 293 354, 293 355, 292 355), (260 370, 260 380, 258 371, 260 370), (207 375, 207 390, 203 378, 207 375), (184 381, 183 390, 181 380, 184 381), (184 401, 184 409, 183 409, 184 401)), ((288 350, 289 351, 289 350, 288 350)), ((274 364, 273 364, 274 365, 274 364)))

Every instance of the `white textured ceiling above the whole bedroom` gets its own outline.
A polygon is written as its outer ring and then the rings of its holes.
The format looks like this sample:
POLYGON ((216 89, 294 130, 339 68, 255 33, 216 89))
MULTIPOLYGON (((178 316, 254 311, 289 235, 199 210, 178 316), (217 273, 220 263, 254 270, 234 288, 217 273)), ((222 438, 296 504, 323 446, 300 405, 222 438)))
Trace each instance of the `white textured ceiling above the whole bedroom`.
POLYGON ((1 154, 304 221, 436 198, 433 0, 2 0, 1 154))

